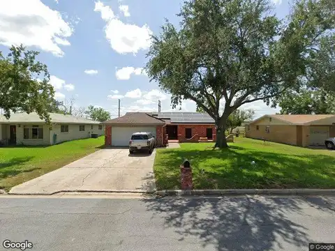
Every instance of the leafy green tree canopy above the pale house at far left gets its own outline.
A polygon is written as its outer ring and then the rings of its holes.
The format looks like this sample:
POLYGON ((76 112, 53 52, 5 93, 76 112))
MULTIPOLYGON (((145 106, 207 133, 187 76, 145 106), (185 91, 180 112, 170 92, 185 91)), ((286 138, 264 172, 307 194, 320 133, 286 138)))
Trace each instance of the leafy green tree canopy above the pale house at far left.
POLYGON ((11 47, 6 57, 0 52, 0 107, 7 119, 10 112, 37 112, 50 122, 47 112, 54 88, 49 84, 47 66, 36 61, 37 55, 22 45, 11 47))

